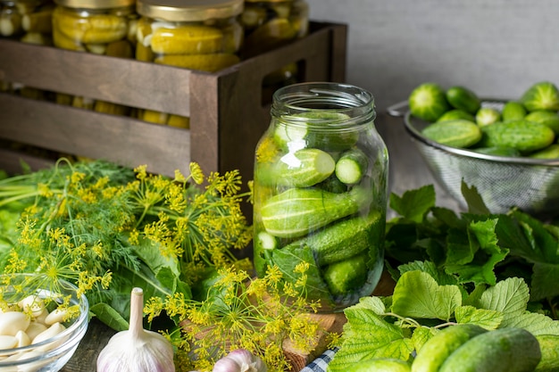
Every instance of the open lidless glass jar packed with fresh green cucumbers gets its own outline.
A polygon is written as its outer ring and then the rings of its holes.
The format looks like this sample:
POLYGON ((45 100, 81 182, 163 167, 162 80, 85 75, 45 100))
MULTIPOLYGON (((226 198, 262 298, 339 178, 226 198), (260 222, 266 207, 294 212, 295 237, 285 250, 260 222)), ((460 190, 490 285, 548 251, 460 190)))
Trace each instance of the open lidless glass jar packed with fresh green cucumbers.
POLYGON ((362 88, 283 87, 256 146, 256 273, 276 265, 289 287, 321 302, 319 311, 358 302, 380 280, 388 151, 374 118, 362 88))

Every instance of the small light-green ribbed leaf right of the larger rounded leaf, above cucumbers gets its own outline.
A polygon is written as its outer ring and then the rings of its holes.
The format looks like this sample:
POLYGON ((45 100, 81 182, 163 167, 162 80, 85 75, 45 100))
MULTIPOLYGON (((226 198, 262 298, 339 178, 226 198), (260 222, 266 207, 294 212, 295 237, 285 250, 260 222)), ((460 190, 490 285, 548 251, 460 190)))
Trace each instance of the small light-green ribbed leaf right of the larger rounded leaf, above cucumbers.
POLYGON ((500 311, 508 318, 524 313, 529 300, 526 282, 520 277, 508 277, 482 293, 477 307, 500 311))

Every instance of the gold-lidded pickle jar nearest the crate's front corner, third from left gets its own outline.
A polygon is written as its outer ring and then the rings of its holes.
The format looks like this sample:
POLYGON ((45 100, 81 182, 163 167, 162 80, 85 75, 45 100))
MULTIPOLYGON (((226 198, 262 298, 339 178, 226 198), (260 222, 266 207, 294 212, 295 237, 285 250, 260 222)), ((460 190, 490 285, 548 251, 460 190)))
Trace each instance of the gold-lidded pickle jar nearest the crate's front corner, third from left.
MULTIPOLYGON (((138 0, 138 61, 215 72, 237 64, 243 0, 138 0)), ((139 119, 188 128, 188 118, 143 110, 139 119)))

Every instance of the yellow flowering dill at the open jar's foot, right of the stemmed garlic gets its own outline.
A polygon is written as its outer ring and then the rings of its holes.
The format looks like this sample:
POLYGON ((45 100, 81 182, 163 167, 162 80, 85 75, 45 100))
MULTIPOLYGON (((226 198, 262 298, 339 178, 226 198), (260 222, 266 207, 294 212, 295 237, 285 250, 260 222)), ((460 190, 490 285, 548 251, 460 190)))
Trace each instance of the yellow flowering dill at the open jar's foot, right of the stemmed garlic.
POLYGON ((260 356, 272 372, 280 372, 290 369, 282 348, 285 340, 300 351, 312 349, 320 328, 311 318, 316 308, 282 284, 277 267, 258 278, 234 268, 218 272, 204 301, 175 293, 146 303, 148 319, 163 310, 182 319, 181 327, 168 335, 178 348, 179 371, 212 370, 229 350, 241 348, 260 356))

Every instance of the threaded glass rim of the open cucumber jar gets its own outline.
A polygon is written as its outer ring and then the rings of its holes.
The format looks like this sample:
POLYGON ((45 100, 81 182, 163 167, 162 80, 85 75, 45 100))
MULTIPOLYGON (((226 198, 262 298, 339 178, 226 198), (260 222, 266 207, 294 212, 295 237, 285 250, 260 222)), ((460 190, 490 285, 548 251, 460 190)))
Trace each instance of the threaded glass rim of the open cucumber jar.
POLYGON ((308 82, 276 90, 271 115, 294 125, 347 128, 374 120, 376 112, 373 95, 361 87, 308 82))

